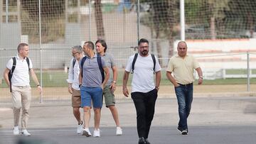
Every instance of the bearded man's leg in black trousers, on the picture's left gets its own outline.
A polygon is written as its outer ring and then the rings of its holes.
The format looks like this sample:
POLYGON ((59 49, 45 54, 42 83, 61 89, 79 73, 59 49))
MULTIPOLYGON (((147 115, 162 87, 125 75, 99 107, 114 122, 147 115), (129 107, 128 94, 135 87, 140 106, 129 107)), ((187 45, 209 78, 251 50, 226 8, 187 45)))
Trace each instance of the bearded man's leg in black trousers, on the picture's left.
POLYGON ((144 104, 144 94, 132 92, 132 100, 137 112, 137 132, 139 138, 146 136, 146 105, 144 104))

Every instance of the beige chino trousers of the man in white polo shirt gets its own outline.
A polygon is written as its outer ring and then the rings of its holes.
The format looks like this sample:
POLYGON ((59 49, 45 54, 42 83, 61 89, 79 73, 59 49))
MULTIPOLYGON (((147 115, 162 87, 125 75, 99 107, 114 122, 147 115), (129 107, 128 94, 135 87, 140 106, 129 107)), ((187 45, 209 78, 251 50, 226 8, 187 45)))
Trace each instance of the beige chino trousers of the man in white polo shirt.
POLYGON ((31 104, 31 87, 11 86, 11 88, 12 102, 14 106, 14 126, 18 126, 20 111, 22 108, 21 129, 26 129, 28 123, 28 109, 31 104))

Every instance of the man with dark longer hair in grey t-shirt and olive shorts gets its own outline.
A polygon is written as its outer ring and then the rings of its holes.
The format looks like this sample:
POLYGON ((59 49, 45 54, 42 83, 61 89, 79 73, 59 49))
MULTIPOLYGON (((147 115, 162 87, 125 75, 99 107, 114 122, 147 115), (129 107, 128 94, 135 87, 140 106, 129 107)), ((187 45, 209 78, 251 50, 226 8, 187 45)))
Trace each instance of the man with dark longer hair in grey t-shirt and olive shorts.
POLYGON ((96 43, 96 50, 97 53, 100 54, 110 69, 110 79, 107 81, 106 86, 103 89, 103 95, 105 97, 105 104, 107 108, 110 109, 112 116, 114 118, 114 122, 117 126, 116 135, 122 135, 122 128, 120 128, 119 118, 118 118, 118 112, 115 105, 115 99, 114 99, 114 90, 116 89, 117 84, 117 67, 114 63, 114 59, 110 53, 107 53, 107 44, 105 40, 97 40, 96 43))

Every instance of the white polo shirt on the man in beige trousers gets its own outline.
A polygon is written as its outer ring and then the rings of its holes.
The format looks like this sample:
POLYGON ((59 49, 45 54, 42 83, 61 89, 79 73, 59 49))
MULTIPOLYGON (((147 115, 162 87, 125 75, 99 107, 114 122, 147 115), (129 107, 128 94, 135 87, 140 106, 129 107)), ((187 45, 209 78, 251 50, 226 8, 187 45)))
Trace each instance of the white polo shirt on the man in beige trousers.
MULTIPOLYGON (((16 67, 13 73, 13 76, 11 77, 11 84, 14 86, 29 86, 29 71, 28 71, 28 63, 26 62, 26 59, 28 57, 25 57, 25 59, 21 59, 18 55, 16 55, 16 67)), ((29 60, 29 69, 33 68, 31 60, 29 60)), ((6 67, 11 70, 13 66, 14 60, 11 58, 7 64, 6 67)))

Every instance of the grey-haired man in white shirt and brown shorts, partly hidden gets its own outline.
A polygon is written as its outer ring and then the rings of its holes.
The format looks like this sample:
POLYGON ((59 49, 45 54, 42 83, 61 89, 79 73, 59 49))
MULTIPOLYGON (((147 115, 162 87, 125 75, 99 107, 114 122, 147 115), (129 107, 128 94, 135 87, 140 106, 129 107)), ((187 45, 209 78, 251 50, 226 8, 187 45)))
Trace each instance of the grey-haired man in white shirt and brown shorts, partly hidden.
POLYGON ((80 45, 72 47, 73 58, 70 60, 70 67, 68 70, 68 92, 72 94, 72 107, 75 119, 78 121, 77 133, 82 133, 83 121, 80 117, 80 106, 81 106, 81 93, 79 87, 79 61, 82 60, 83 52, 80 45))

